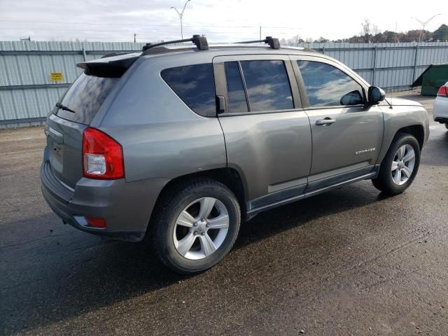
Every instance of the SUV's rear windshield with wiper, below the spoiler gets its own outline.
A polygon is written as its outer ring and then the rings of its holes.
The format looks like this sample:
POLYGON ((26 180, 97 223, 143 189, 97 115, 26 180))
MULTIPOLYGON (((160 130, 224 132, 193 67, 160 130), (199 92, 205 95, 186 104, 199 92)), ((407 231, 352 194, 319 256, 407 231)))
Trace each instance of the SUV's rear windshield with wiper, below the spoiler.
POLYGON ((56 115, 75 123, 90 125, 104 99, 120 78, 88 76, 82 73, 69 87, 61 104, 75 113, 57 110, 56 115))

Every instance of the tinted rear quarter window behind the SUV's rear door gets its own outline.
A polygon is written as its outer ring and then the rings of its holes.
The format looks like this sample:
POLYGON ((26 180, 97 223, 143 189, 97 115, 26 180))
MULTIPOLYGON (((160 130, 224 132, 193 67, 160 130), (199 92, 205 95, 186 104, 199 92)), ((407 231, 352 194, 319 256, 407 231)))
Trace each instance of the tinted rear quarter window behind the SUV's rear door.
POLYGON ((201 116, 216 116, 215 82, 210 63, 165 69, 161 76, 190 109, 201 116))

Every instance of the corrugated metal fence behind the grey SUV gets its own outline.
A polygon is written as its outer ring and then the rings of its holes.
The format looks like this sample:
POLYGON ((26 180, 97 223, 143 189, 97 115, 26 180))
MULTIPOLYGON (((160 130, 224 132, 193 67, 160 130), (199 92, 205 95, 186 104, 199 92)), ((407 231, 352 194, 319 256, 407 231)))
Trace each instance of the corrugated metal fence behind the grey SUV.
MULTIPOLYGON (((40 124, 80 69, 75 64, 143 43, 0 41, 0 128, 40 124), (62 73, 54 81, 51 73, 62 73)), ((301 43, 339 59, 372 85, 407 90, 430 64, 448 62, 448 43, 301 43)), ((55 78, 53 78, 55 79, 55 78)))

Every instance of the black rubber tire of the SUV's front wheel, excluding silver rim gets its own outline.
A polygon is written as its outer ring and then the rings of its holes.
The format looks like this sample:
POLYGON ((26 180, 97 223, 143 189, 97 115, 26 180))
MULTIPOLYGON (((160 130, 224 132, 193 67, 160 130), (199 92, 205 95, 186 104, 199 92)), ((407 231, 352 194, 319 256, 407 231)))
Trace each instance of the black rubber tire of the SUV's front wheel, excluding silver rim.
POLYGON ((376 179, 372 179, 372 183, 378 190, 383 191, 389 195, 397 195, 405 191, 414 181, 417 172, 419 171, 420 165, 420 145, 419 142, 415 139, 414 136, 407 133, 398 133, 392 141, 391 146, 389 147, 386 156, 381 162, 381 166, 379 168, 379 173, 376 179), (415 153, 415 163, 414 169, 412 170, 412 174, 409 179, 401 184, 396 184, 392 179, 392 162, 395 158, 395 153, 397 153, 398 148, 401 146, 408 144, 412 146, 415 153))

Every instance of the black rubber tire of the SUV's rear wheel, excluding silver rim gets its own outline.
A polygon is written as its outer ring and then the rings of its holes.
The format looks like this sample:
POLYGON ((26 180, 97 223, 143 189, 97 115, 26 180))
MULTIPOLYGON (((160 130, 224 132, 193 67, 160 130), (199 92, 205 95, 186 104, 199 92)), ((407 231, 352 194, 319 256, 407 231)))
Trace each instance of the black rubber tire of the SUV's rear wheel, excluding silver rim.
POLYGON ((240 223, 241 212, 234 193, 218 181, 196 179, 174 186, 162 195, 162 200, 158 202, 151 219, 150 234, 153 236, 153 244, 160 260, 167 267, 177 273, 194 274, 216 265, 228 254, 237 239, 240 223), (214 197, 225 206, 229 216, 228 232, 214 253, 200 260, 191 260, 177 251, 173 232, 183 209, 202 197, 214 197))

